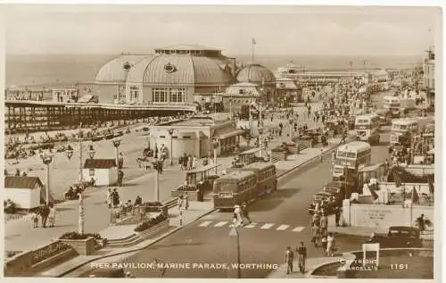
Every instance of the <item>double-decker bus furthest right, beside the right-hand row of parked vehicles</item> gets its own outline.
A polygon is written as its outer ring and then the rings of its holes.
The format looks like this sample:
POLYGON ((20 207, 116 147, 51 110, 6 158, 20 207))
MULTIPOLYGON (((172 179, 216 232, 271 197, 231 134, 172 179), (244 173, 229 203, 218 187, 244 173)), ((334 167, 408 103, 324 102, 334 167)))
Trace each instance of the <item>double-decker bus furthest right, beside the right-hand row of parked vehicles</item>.
POLYGON ((392 146, 410 146, 411 138, 418 132, 417 118, 392 120, 390 143, 392 146))

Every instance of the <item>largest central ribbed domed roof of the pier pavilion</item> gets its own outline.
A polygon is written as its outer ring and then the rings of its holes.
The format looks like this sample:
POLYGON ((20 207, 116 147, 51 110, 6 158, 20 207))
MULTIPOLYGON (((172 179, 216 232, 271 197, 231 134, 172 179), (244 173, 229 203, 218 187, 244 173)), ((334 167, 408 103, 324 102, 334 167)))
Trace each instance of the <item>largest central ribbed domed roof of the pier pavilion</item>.
POLYGON ((219 61, 208 57, 160 54, 145 63, 144 84, 226 85, 232 81, 230 72, 222 70, 219 61))

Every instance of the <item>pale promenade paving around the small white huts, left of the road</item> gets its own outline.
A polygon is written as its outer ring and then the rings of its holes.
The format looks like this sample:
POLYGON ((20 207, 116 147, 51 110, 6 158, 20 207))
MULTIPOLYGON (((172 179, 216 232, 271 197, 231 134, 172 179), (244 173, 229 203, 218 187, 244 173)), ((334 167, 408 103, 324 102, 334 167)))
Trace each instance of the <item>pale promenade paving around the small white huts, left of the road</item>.
MULTIPOLYGON (((153 171, 145 171, 138 168, 136 157, 145 147, 145 140, 142 133, 132 132, 122 137, 120 151, 123 152, 125 182, 123 187, 119 187, 120 199, 122 201, 135 200, 136 196, 141 196, 143 201, 154 200, 154 183, 155 173, 153 171), (139 139, 138 139, 139 138, 139 139), (135 142, 140 141, 140 143, 135 142), (127 177, 126 177, 127 176, 127 177)), ((284 142, 287 137, 275 137, 272 146, 277 146, 284 142)), ((244 145, 242 145, 244 146, 244 145)), ((86 145, 87 148, 87 145, 86 145)), ((96 156, 98 158, 112 158, 110 153, 114 152, 114 148, 110 141, 100 141, 95 143, 96 156), (107 156, 109 155, 109 156, 107 156)), ((75 158, 74 156, 73 158, 75 158)), ((221 164, 218 173, 225 170, 233 161, 234 156, 219 157, 218 163, 221 164)), ((62 198, 64 190, 68 187, 67 180, 77 179, 77 162, 69 162, 64 154, 56 154, 52 169, 51 184, 54 189, 52 192, 56 198, 62 198)), ((37 157, 29 158, 22 161, 16 166, 29 168, 32 166, 40 166, 41 162, 37 157)), ((11 171, 11 170, 10 170, 11 171)), ((30 171, 29 176, 38 176, 44 178, 45 171, 30 171)), ((165 201, 171 198, 170 192, 182 185, 186 179, 186 171, 179 171, 178 164, 174 166, 166 166, 163 174, 160 175, 160 200, 165 201)), ((105 204, 106 191, 104 187, 88 187, 85 192, 85 215, 86 232, 98 232, 106 229, 110 221, 110 212, 105 204), (94 215, 95 217, 92 217, 94 215)), ((51 238, 59 237, 64 232, 78 229, 78 201, 67 201, 56 204, 56 226, 51 229, 32 229, 29 217, 21 217, 6 221, 4 245, 8 251, 23 251, 32 249, 36 246, 44 245, 51 238), (29 231, 33 233, 30 234, 29 231)))

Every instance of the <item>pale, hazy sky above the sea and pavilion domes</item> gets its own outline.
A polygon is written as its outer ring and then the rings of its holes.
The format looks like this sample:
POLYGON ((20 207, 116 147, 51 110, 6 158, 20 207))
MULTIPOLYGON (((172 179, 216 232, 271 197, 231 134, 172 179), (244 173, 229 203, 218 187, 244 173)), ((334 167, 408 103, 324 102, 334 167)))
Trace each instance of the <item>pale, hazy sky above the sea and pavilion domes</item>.
POLYGON ((442 13, 435 7, 5 8, 6 54, 150 53, 178 44, 250 54, 255 38, 255 54, 413 55, 442 34, 442 13))

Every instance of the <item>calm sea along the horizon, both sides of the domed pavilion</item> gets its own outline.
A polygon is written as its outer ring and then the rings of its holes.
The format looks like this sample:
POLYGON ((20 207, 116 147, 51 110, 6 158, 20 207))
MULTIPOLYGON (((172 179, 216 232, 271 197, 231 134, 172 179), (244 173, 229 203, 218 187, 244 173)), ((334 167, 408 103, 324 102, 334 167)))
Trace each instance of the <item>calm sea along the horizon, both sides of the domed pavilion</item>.
MULTIPOLYGON (((250 55, 231 55, 237 63, 250 62, 250 55)), ((117 54, 6 54, 5 86, 73 86, 80 81, 94 81, 95 74, 117 54)), ((307 71, 403 69, 422 62, 422 55, 256 55, 256 63, 276 71, 293 62, 307 71), (364 63, 366 62, 366 63, 364 63)))

